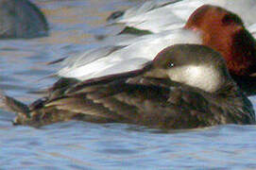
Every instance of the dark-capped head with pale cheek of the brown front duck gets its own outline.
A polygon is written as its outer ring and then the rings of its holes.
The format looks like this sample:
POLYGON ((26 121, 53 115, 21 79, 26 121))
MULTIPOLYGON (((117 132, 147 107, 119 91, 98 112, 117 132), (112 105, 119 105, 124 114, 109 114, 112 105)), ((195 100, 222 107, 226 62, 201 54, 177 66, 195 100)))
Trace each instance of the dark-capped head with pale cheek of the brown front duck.
POLYGON ((145 66, 145 76, 170 78, 214 93, 232 82, 222 56, 199 44, 176 44, 163 49, 145 66))

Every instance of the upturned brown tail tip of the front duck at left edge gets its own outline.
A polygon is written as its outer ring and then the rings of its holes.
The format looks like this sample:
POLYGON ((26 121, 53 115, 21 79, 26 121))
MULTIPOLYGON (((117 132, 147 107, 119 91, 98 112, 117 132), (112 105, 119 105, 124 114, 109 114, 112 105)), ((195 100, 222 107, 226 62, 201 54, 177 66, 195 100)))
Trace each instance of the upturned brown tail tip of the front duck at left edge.
POLYGON ((0 93, 0 108, 15 112, 17 117, 30 118, 30 110, 26 104, 0 93))

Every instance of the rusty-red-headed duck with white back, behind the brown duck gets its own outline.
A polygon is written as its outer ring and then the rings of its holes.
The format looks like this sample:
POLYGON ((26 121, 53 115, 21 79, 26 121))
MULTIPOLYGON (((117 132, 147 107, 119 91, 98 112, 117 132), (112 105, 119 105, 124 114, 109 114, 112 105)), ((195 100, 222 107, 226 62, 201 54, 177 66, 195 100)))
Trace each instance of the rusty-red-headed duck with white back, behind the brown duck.
POLYGON ((116 42, 64 59, 58 71, 61 82, 78 81, 140 69, 165 47, 197 43, 220 52, 231 76, 247 95, 256 93, 256 45, 242 19, 229 10, 212 5, 197 8, 185 26, 175 30, 116 42))

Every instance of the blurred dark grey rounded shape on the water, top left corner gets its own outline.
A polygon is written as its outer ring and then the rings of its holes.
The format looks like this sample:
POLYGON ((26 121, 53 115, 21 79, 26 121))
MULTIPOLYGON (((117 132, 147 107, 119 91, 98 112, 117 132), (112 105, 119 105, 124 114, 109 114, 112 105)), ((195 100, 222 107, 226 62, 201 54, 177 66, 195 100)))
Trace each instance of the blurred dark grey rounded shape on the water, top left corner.
POLYGON ((28 0, 0 0, 0 39, 32 39, 49 34, 43 12, 28 0))

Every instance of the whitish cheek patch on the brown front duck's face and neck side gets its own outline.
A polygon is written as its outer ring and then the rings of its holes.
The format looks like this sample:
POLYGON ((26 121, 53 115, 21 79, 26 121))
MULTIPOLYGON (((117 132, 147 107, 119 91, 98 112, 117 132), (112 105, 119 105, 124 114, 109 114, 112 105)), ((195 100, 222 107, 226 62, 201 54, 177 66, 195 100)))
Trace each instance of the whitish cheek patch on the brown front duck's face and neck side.
POLYGON ((211 65, 187 65, 173 67, 167 71, 168 76, 177 82, 184 83, 206 92, 218 90, 220 75, 211 65))

